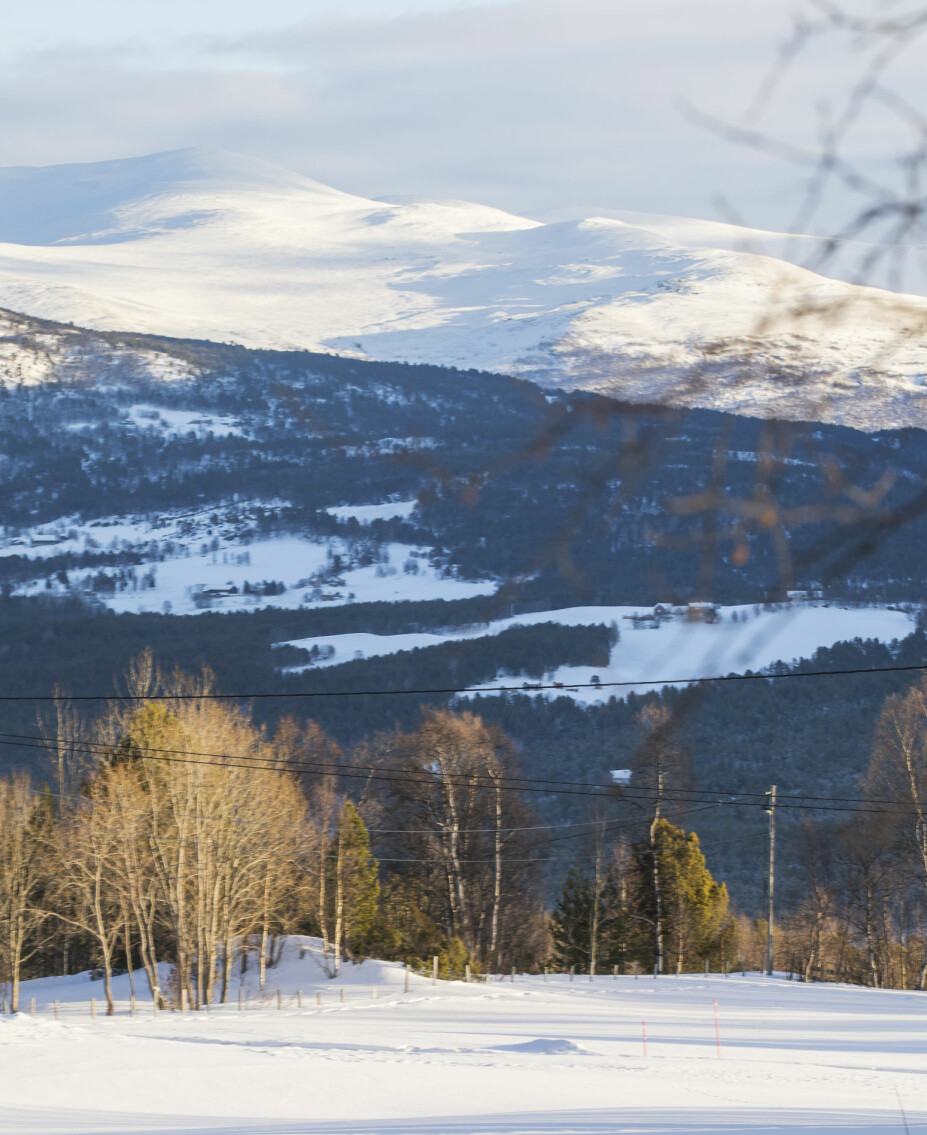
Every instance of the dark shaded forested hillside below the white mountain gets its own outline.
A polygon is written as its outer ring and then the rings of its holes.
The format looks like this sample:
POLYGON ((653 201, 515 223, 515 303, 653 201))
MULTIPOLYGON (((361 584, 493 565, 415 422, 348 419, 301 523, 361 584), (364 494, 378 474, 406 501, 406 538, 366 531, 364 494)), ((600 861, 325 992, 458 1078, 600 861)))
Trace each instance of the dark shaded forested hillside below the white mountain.
MULTIPOLYGON (((762 604, 790 588, 913 612, 925 594, 918 430, 783 426, 475 371, 17 326, 17 350, 44 352, 50 377, 0 385, 0 689, 25 699, 3 704, 5 766, 42 774, 41 749, 23 741, 36 730, 30 696, 107 695, 146 648, 168 671, 208 666, 227 692, 312 693, 261 699, 256 720, 311 716, 352 749, 449 701, 357 691, 601 666, 614 641, 606 625, 551 622, 481 637, 500 615, 762 604), (477 631, 301 673, 287 667, 305 666, 305 651, 277 645, 460 628, 477 631)), ((927 645, 920 633, 850 644, 809 664, 848 661, 920 664, 927 645)), ((719 801, 770 782, 850 791, 884 697, 910 680, 709 683, 691 704, 672 691, 664 701, 679 711, 686 783, 719 801)), ((599 783, 632 762, 655 698, 604 693, 582 708, 526 690, 472 706, 511 734, 526 773, 599 783)), ((542 792, 536 805, 549 821, 587 807, 542 792)), ((761 817, 719 802, 686 823, 756 909, 761 817)))

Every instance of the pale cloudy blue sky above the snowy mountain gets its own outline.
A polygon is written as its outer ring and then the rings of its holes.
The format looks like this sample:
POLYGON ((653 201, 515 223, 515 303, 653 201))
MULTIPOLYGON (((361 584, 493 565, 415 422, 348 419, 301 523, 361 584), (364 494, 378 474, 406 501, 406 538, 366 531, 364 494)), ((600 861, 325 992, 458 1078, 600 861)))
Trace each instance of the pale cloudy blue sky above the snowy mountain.
MULTIPOLYGON (((875 9, 879 0, 850 0, 875 9)), ((607 210, 787 226, 797 170, 718 138, 682 101, 743 115, 810 0, 35 0, 7 6, 0 165, 218 145, 371 196, 479 200, 542 219, 607 210), (726 208, 726 207, 724 207, 726 208)), ((860 57, 818 45, 764 128, 814 145, 860 57)), ((917 43, 893 81, 924 106, 917 43)), ((903 129, 851 138, 870 171, 903 129)), ((851 203, 825 202, 836 227, 851 203)))

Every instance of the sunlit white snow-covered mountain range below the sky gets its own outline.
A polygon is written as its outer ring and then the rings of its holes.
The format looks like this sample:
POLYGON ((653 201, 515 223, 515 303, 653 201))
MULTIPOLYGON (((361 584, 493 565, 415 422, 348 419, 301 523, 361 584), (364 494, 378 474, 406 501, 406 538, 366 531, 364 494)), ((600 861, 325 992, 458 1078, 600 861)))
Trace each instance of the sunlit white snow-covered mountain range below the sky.
POLYGON ((927 424, 927 299, 616 219, 374 201, 182 150, 0 170, 0 306, 101 330, 927 424))

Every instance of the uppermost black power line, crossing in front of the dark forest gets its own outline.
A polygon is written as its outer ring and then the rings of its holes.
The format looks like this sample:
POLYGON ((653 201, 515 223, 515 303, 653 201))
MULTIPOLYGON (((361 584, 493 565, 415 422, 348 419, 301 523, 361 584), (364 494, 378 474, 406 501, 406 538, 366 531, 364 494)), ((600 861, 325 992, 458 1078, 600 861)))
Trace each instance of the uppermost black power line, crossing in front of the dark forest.
POLYGON ((690 678, 634 678, 609 682, 531 682, 522 686, 448 686, 421 689, 390 690, 277 690, 247 693, 3 693, 0 703, 16 701, 262 701, 272 698, 376 698, 428 697, 452 693, 522 693, 530 696, 539 690, 630 689, 634 686, 692 686, 699 682, 769 682, 792 678, 850 678, 861 674, 902 674, 927 671, 927 663, 903 666, 850 666, 843 670, 794 670, 782 673, 701 674, 690 678))

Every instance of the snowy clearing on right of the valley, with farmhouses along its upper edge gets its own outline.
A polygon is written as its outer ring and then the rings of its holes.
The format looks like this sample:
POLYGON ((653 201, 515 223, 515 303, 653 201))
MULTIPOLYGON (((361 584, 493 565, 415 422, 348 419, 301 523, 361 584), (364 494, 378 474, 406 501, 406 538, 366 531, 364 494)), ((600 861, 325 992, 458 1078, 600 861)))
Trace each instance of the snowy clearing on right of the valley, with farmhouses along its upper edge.
MULTIPOLYGON (((294 639, 290 645, 306 650, 332 647, 335 653, 322 655, 317 665, 335 666, 359 655, 372 658, 441 642, 460 642, 498 634, 511 627, 547 622, 565 627, 614 623, 621 638, 612 648, 607 666, 562 666, 546 675, 546 682, 562 682, 564 688, 545 690, 543 696, 565 695, 591 704, 612 693, 621 697, 632 690, 643 693, 658 689, 667 680, 740 673, 774 662, 808 658, 818 647, 849 639, 891 642, 910 634, 915 625, 911 616, 902 611, 802 603, 769 611, 752 606, 720 607, 716 623, 690 622, 684 615, 677 615, 654 629, 638 630, 633 616, 642 611, 640 607, 568 607, 499 619, 441 634, 329 634, 294 639), (593 675, 601 682, 633 681, 634 686, 601 692, 588 687, 571 689, 574 683, 591 682, 593 675)), ((500 673, 496 682, 488 684, 520 684, 521 681, 521 675, 500 673)))

